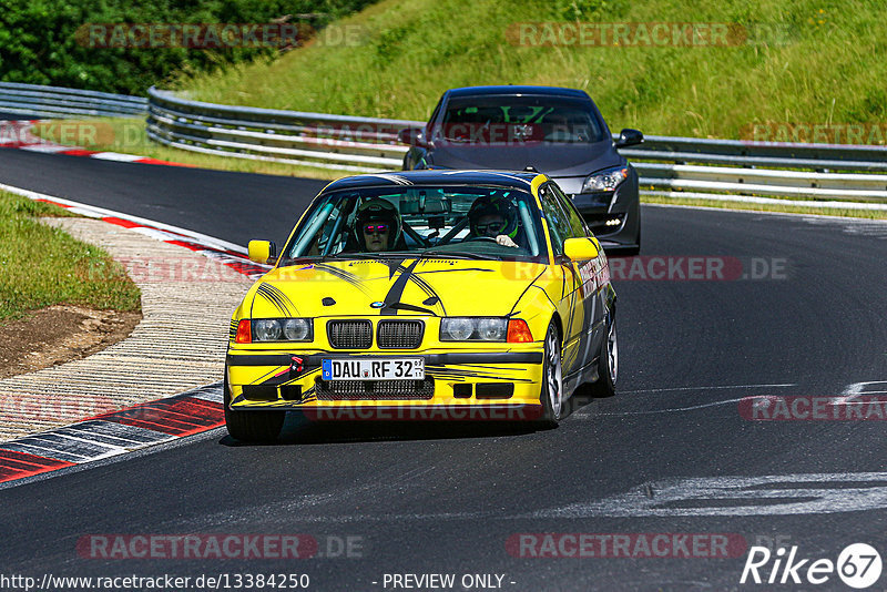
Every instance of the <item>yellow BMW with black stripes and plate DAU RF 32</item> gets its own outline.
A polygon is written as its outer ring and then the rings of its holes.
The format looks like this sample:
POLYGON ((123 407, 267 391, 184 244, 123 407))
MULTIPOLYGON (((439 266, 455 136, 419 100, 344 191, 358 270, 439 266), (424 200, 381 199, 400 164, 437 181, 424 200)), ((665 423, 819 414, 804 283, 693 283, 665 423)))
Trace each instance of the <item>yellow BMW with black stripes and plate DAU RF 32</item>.
POLYGON ((557 423, 614 392, 615 292, 572 202, 534 171, 410 171, 327 185, 231 320, 228 432, 310 420, 557 423))

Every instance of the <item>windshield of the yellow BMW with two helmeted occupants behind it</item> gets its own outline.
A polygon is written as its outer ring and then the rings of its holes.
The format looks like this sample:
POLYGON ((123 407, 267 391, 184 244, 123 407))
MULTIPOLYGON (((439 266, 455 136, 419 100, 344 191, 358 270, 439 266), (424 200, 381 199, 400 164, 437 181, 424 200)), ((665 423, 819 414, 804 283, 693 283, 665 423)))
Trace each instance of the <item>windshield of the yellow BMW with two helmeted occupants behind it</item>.
POLYGON ((318 196, 281 265, 315 257, 543 261, 529 192, 487 186, 361 187, 318 196))

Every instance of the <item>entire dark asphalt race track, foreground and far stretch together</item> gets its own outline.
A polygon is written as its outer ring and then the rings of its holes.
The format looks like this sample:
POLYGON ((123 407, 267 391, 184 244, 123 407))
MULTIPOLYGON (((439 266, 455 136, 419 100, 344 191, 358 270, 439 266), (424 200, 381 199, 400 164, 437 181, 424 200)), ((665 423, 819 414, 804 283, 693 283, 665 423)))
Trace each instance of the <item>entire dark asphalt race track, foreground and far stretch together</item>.
MULTIPOLYGON (((238 244, 282 241, 323 186, 12 150, 0 151, 0 183, 238 244)), ((455 590, 463 574, 498 574, 513 591, 764 590, 740 585, 756 543, 796 545, 797 559, 810 560, 801 578, 850 543, 884 554, 887 425, 751 421, 737 401, 887 391, 876 384, 887 381, 887 224, 654 206, 643 220, 643 255, 662 262, 642 258, 646 269, 632 274, 626 259, 611 259, 623 266, 619 394, 578 401, 558 429, 290 421, 274 446, 239 446, 216 430, 0 489, 4 571, 304 573, 323 591, 392 590, 391 574, 407 573, 456 574, 455 590), (746 277, 682 279, 690 256, 740 262, 746 277), (670 265, 666 277, 642 279, 670 265), (88 535, 227 533, 307 534, 318 553, 98 559, 77 550, 88 535), (661 558, 514 557, 541 549, 507 544, 542 540, 520 533, 721 534, 745 545, 727 558, 687 558, 680 545, 661 558)), ((820 585, 788 581, 783 589, 847 589, 835 573, 820 585)), ((478 582, 472 589, 499 580, 478 582)))

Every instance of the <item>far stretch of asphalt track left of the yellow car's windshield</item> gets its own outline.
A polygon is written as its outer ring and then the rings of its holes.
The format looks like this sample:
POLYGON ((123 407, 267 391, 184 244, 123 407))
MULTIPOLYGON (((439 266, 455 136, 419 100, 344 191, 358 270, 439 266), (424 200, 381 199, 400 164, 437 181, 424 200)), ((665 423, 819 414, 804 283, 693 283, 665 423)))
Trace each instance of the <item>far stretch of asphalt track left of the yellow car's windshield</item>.
POLYGON ((180 166, 0 152, 0 183, 174 224, 246 246, 283 242, 327 184, 180 166))

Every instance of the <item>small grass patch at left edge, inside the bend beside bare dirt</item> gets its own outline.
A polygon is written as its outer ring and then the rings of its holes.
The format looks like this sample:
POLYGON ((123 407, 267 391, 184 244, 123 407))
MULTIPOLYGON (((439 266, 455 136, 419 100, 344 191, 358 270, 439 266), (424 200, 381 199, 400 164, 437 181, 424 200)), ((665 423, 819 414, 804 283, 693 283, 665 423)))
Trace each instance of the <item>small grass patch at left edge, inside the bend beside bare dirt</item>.
POLYGON ((64 211, 0 192, 0 323, 55 304, 139 310, 141 293, 101 248, 41 224, 64 211))

